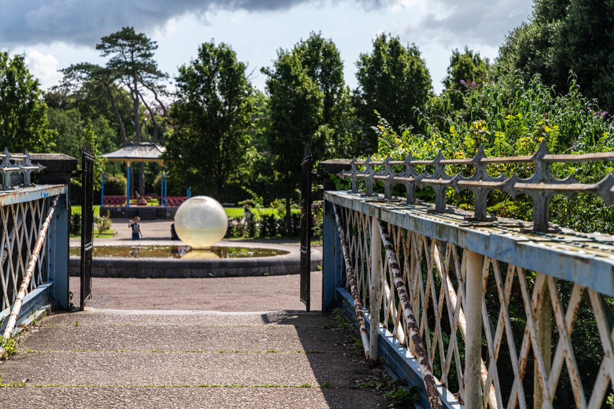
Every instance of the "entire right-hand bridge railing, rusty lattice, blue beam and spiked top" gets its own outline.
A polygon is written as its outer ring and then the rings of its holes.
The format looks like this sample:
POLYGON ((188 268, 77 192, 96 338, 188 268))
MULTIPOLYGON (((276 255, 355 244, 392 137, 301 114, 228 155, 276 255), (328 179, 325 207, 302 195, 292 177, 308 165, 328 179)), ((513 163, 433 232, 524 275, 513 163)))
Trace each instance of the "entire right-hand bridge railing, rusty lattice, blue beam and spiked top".
POLYGON ((550 172, 556 162, 612 160, 542 145, 530 157, 348 162, 339 176, 352 189, 324 194, 324 308, 341 302, 356 313, 365 356, 383 355, 421 386, 425 407, 604 407, 614 380, 614 238, 553 228, 548 204, 580 192, 612 203, 612 175, 589 185, 550 172), (488 166, 517 162, 532 163, 532 177, 489 175, 488 166), (448 165, 472 175, 448 175, 448 165), (398 184, 405 201, 391 194, 398 184), (416 186, 432 186, 435 204, 416 200, 416 186), (475 212, 446 206, 448 187, 472 191, 475 212), (533 227, 488 223, 492 189, 529 194, 533 227))

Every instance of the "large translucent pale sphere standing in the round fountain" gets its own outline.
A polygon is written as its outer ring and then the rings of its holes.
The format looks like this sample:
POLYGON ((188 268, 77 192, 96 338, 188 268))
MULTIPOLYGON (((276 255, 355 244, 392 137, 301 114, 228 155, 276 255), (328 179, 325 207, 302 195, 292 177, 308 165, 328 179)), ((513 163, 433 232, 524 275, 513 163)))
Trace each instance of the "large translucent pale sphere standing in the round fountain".
POLYGON ((224 238, 227 229, 224 208, 209 196, 190 197, 175 214, 177 235, 192 248, 210 248, 224 238))

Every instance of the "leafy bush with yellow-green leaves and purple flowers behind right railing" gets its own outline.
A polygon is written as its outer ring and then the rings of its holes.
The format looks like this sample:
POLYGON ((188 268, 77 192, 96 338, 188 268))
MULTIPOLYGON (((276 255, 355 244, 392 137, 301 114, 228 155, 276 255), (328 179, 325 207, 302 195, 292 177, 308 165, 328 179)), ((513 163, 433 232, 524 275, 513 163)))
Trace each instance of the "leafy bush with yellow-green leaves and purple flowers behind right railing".
MULTIPOLYGON (((508 91, 504 84, 495 78, 482 85, 463 86, 456 92, 466 108, 455 110, 452 104, 444 104, 448 110, 443 120, 433 121, 422 115, 423 134, 406 128, 397 133, 380 118, 379 126, 375 127, 379 156, 390 154, 395 159, 405 159, 411 151, 415 158, 433 159, 441 150, 446 158, 473 158, 480 145, 487 156, 533 155, 542 139, 554 154, 614 149, 612 121, 580 93, 575 80, 570 82, 566 94, 557 96, 553 88, 543 85, 538 75, 528 82, 517 75, 511 90, 513 97, 507 102, 502 98, 508 91)), ((444 94, 443 98, 448 96, 444 94)), ((501 165, 497 170, 508 176, 531 174, 529 167, 519 164, 501 165)), ((579 182, 594 183, 612 172, 612 167, 594 162, 580 166, 557 165, 552 170, 555 177, 571 174, 579 182)), ((464 202, 449 190, 451 202, 464 202)), ((489 210, 498 215, 521 220, 531 217, 532 204, 527 197, 511 201, 505 195, 494 193, 490 204, 489 210)), ((551 208, 554 223, 579 231, 614 233, 614 212, 594 196, 578 195, 570 201, 555 196, 551 208)))

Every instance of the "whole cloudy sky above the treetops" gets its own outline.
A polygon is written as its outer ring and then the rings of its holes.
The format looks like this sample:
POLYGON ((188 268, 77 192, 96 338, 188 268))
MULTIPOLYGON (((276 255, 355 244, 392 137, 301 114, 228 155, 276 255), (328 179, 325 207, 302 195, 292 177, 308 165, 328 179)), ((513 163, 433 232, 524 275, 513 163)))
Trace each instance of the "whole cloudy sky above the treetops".
POLYGON ((346 82, 356 87, 356 60, 380 32, 414 42, 441 91, 451 50, 467 45, 494 59, 508 32, 527 21, 531 0, 0 0, 0 51, 25 53, 43 88, 73 63, 103 64, 100 37, 133 26, 158 42, 155 58, 173 77, 198 46, 230 44, 264 88, 260 68, 278 48, 292 48, 309 32, 335 42, 346 82))

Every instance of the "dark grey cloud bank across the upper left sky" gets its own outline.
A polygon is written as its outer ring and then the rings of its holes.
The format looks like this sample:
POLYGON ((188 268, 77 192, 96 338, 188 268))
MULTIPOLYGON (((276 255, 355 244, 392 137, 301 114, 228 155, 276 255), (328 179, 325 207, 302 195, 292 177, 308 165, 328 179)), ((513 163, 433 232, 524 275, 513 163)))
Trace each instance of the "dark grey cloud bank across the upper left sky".
POLYGON ((184 15, 206 21, 208 13, 220 10, 279 12, 302 4, 324 7, 327 2, 352 1, 365 9, 381 9, 392 0, 0 0, 0 44, 91 46, 123 26, 145 31, 184 15))

